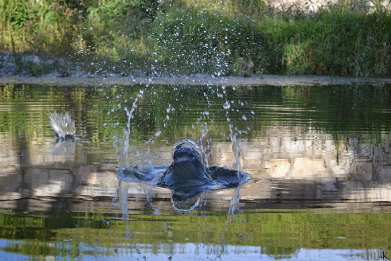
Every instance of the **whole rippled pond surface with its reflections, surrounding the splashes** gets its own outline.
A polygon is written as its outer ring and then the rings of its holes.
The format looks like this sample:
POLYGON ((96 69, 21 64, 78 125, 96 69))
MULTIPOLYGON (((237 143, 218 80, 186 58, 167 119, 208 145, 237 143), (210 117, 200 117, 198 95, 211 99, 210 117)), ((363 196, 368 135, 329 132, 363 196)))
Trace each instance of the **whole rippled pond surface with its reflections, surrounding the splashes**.
POLYGON ((2 84, 0 255, 391 258, 390 152, 389 84, 2 84), (75 141, 56 142, 53 111, 71 113, 75 141), (252 182, 202 192, 183 211, 169 189, 118 175, 119 161, 170 165, 184 138, 205 164, 252 182))

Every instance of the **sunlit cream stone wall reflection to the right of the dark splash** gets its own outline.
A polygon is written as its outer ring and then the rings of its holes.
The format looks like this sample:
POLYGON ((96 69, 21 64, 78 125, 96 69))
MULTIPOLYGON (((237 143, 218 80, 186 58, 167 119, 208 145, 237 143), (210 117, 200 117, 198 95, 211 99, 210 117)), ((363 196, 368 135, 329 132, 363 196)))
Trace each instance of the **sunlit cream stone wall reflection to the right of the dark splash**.
MULTIPOLYGON (((244 142, 243 170, 260 182, 246 186, 242 199, 391 201, 391 135, 383 134, 381 142, 370 138, 362 134, 336 141, 302 126, 269 128, 264 138, 244 142)), ((235 166, 229 143, 214 147, 213 164, 235 166)))

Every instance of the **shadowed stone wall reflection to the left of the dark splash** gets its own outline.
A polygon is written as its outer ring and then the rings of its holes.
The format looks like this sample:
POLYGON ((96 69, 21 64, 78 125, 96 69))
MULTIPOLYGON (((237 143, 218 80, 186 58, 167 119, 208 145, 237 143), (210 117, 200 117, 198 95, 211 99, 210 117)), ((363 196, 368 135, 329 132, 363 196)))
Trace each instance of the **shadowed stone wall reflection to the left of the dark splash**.
MULTIPOLYGON (((23 209, 51 210, 57 209, 59 203, 69 203, 69 206, 60 209, 75 210, 74 203, 97 202, 101 198, 110 203, 108 198, 117 194, 115 168, 99 163, 87 153, 82 142, 56 144, 54 139, 45 138, 23 143, 7 133, 1 133, 0 144, 1 207, 18 208, 19 204, 24 204, 23 209), (97 162, 93 162, 94 159, 97 162), (23 203, 21 200, 24 200, 23 203)), ((112 154, 115 156, 114 148, 112 154)), ((131 195, 140 197, 145 190, 139 184, 130 188, 131 195)), ((155 191, 170 198, 170 191, 155 191)), ((159 195, 155 192, 152 196, 159 195)), ((97 206, 101 207, 102 202, 83 204, 82 210, 93 211, 86 207, 97 206)))

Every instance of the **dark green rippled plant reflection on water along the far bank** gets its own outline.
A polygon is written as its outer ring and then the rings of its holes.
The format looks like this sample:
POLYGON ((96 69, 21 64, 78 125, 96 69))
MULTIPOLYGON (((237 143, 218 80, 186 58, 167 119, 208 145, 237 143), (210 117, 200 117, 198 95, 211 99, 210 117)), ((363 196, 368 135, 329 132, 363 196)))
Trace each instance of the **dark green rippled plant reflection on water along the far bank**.
POLYGON ((251 129, 242 135, 249 140, 276 124, 311 126, 336 135, 365 132, 376 136, 390 132, 391 127, 388 86, 227 87, 226 97, 221 98, 217 96, 223 93, 221 87, 8 84, 0 87, 0 132, 13 136, 26 132, 30 139, 53 136, 47 120, 50 111, 72 109, 78 135, 99 146, 100 141, 122 132, 124 107, 131 108, 141 88, 144 95, 131 125, 130 138, 134 140, 147 140, 157 130, 170 142, 198 138, 203 121, 210 123, 209 130, 217 139, 225 139, 229 133, 227 117, 239 130, 251 129), (226 100, 233 101, 229 110, 223 109, 226 100), (174 110, 167 112, 169 106, 174 110))

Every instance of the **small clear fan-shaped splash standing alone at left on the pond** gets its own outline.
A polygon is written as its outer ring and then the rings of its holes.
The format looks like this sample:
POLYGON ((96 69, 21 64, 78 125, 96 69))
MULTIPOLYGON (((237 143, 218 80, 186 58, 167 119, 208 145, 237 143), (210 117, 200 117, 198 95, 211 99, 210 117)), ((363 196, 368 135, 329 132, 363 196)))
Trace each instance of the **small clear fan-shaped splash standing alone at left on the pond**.
POLYGON ((74 139, 76 134, 75 121, 69 112, 53 112, 49 115, 50 125, 60 140, 74 139))

